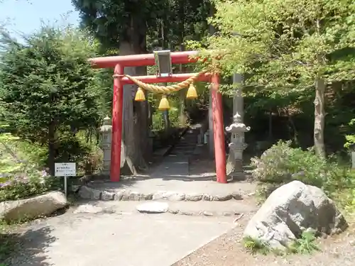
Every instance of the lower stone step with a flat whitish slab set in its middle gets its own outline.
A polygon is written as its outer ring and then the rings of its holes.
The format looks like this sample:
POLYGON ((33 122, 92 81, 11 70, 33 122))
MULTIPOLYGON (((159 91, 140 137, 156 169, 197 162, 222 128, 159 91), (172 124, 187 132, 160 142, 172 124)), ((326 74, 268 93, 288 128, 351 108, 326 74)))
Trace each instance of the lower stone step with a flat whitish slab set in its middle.
POLYGON ((187 216, 243 216, 257 211, 253 202, 243 201, 83 201, 74 213, 178 214, 187 216))

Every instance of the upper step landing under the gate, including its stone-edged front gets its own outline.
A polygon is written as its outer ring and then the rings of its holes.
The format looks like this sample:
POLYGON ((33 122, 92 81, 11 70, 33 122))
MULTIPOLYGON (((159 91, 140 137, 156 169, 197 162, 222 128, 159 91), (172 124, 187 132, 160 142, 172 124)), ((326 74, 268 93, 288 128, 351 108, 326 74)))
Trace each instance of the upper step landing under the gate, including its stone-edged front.
POLYGON ((121 182, 92 182, 80 187, 82 199, 119 201, 169 200, 169 201, 226 201, 244 199, 252 194, 256 184, 243 181, 220 184, 201 179, 146 178, 121 182))

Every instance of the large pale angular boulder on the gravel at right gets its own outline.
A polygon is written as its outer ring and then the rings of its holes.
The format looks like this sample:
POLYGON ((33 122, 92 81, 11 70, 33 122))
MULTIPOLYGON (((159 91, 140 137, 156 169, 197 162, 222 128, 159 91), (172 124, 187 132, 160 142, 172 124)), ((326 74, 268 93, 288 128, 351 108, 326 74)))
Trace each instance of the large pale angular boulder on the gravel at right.
POLYGON ((249 221, 244 236, 285 249, 302 231, 331 234, 346 227, 344 216, 322 189, 293 181, 271 193, 249 221))

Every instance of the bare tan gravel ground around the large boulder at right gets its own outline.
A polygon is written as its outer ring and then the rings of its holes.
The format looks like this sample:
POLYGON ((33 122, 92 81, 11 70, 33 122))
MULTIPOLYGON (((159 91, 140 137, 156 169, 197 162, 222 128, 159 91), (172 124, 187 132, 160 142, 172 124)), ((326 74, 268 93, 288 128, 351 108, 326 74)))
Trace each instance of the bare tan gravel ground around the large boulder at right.
POLYGON ((172 266, 355 265, 354 223, 341 235, 319 239, 318 243, 322 251, 313 255, 252 255, 244 249, 241 243, 244 227, 251 215, 244 216, 234 229, 212 240, 172 266))

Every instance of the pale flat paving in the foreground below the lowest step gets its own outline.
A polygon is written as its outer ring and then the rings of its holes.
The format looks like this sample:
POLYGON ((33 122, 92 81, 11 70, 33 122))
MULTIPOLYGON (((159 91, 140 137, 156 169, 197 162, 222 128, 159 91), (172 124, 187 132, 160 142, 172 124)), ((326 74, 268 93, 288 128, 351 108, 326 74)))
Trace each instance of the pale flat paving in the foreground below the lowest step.
POLYGON ((231 217, 74 214, 27 230, 9 266, 170 266, 234 227, 231 217))

